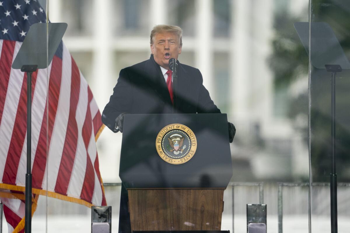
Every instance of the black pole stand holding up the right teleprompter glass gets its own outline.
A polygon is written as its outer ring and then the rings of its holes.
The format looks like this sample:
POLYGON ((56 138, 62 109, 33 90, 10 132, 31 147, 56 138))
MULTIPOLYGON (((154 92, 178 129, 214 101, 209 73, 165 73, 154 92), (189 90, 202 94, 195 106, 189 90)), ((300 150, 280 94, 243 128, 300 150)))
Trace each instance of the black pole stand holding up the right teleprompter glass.
POLYGON ((337 173, 335 161, 335 77, 342 71, 340 65, 325 65, 328 72, 332 72, 331 78, 331 137, 332 137, 332 173, 330 174, 330 223, 331 233, 338 232, 337 211, 337 173))

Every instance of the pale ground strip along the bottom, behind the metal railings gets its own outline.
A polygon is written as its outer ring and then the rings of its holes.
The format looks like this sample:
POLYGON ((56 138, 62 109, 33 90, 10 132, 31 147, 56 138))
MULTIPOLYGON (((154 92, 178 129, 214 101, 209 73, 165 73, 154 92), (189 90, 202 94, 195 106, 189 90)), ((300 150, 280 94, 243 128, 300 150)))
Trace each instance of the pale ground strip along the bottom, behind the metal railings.
MULTIPOLYGON (((232 216, 224 215, 222 219, 222 230, 230 230, 232 232, 232 216)), ((91 216, 49 216, 48 232, 49 233, 76 233, 91 232, 91 216)), ((330 219, 324 216, 313 217, 312 232, 330 233, 330 219)), ((45 217, 39 216, 33 218, 32 232, 45 233, 45 217)), ((338 218, 338 233, 348 233, 350 221, 348 218, 338 218)), ((7 225, 4 222, 2 232, 7 233, 7 225)), ((113 216, 112 232, 118 232, 118 216, 113 216)), ((246 233, 246 218, 242 215, 235 216, 235 233, 246 233)), ((278 233, 277 216, 267 219, 267 232, 278 233)), ((308 216, 284 216, 283 217, 283 233, 307 233, 308 232, 308 216)))

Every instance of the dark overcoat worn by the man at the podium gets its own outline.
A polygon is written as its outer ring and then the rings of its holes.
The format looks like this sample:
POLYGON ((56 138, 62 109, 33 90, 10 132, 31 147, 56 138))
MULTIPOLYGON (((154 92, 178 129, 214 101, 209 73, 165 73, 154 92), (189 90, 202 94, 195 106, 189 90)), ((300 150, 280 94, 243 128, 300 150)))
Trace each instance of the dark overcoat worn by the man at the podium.
MULTIPOLYGON (((203 86, 201 72, 177 61, 176 113, 221 113, 203 86)), ((120 71, 113 95, 102 112, 102 122, 113 132, 116 118, 128 114, 171 114, 173 104, 160 66, 153 55, 120 71)), ((131 232, 128 196, 121 187, 119 233, 131 232)))

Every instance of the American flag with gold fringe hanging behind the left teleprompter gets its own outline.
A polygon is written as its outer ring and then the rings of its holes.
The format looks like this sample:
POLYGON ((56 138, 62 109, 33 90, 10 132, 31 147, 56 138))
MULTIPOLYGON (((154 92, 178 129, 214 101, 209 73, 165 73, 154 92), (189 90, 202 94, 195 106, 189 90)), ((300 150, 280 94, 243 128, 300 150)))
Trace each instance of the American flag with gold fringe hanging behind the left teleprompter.
MULTIPOLYGON (((23 231, 27 162, 27 75, 11 65, 30 25, 45 22, 36 0, 0 0, 0 197, 9 232, 23 231)), ((31 88, 33 208, 46 193, 106 205, 95 143, 101 114, 62 42, 49 67, 33 73, 31 88)))

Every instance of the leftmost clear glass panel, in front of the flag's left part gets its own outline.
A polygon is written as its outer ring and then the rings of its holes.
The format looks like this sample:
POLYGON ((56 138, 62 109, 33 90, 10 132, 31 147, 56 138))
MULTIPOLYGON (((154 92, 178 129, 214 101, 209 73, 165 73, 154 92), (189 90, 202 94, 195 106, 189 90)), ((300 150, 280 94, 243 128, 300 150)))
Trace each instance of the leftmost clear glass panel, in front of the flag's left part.
POLYGON ((0 232, 45 232, 46 6, 46 0, 0 1, 0 232))

